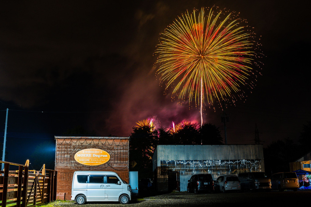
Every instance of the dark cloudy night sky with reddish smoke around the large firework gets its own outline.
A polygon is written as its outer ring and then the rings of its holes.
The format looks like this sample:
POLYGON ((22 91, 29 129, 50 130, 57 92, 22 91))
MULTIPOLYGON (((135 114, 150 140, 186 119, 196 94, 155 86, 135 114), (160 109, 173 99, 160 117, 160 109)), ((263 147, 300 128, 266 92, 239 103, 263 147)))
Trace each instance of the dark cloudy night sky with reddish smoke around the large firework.
MULTIPOLYGON (((75 126, 128 137, 137 121, 150 117, 165 128, 172 121, 200 123, 198 108, 180 106, 164 93, 154 52, 160 33, 177 16, 214 5, 240 12, 261 36, 264 54, 256 87, 228 108, 228 144, 254 144, 255 124, 264 146, 297 140, 311 121, 307 1, 2 0, 0 129, 9 108, 6 161, 25 163, 38 150, 53 155, 54 135, 75 126)), ((224 137, 221 114, 207 108, 203 120, 224 137)))

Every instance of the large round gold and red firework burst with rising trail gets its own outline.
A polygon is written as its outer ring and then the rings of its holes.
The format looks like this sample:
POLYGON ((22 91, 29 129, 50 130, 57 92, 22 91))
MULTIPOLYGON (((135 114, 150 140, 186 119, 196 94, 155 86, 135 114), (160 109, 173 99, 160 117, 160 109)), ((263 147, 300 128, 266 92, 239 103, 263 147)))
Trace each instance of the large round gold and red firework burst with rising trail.
POLYGON ((253 87, 258 43, 245 20, 232 12, 196 12, 187 11, 161 34, 156 63, 165 90, 172 87, 172 97, 200 107, 202 125, 206 104, 234 101, 243 97, 241 86, 253 87))

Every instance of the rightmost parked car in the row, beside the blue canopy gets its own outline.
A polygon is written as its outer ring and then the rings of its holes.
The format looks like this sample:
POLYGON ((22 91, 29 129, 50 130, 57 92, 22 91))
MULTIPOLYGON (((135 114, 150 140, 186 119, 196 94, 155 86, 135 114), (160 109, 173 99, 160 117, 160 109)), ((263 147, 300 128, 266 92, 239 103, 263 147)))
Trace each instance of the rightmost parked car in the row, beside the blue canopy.
POLYGON ((271 177, 272 189, 279 191, 293 190, 299 188, 299 181, 296 173, 275 173, 271 177))

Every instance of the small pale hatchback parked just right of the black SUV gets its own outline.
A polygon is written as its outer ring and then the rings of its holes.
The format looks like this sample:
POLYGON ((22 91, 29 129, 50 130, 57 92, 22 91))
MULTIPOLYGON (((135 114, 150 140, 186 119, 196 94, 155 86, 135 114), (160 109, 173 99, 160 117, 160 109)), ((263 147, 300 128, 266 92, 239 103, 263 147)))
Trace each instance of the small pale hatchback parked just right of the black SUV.
POLYGON ((215 191, 241 191, 241 182, 236 175, 224 175, 217 178, 215 191))

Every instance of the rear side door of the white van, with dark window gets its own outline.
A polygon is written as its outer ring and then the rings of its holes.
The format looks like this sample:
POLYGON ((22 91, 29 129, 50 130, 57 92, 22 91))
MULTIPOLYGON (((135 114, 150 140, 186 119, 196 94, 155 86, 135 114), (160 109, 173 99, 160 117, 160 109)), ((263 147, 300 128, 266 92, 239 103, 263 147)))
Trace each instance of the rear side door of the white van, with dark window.
POLYGON ((89 175, 86 200, 105 200, 105 175, 89 175))

